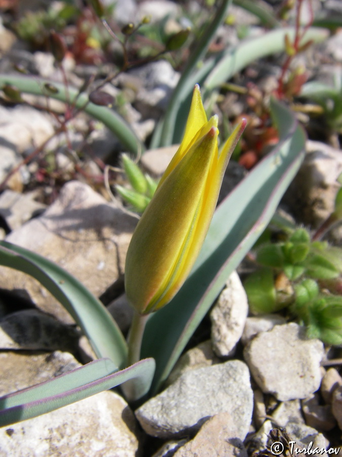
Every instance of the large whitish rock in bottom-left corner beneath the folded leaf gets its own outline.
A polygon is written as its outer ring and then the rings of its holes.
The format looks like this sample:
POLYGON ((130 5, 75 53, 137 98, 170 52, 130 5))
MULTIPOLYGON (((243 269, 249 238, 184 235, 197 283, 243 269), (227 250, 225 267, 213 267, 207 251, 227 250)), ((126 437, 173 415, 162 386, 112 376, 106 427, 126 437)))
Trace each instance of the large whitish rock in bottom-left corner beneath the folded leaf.
POLYGON ((137 423, 119 395, 105 391, 0 429, 0 457, 136 457, 137 423))

